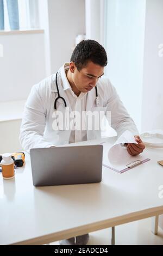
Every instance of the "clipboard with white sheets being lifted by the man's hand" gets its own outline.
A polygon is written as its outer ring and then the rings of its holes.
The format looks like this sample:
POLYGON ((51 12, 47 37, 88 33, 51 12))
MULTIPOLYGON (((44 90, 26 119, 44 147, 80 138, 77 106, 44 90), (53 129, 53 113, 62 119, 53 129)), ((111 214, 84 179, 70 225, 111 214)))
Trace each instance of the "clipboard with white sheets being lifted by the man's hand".
POLYGON ((139 164, 149 161, 142 153, 137 156, 131 156, 127 152, 127 148, 122 146, 122 143, 135 143, 135 138, 130 131, 125 131, 120 138, 111 145, 110 143, 103 144, 103 166, 115 170, 118 173, 124 173, 130 168, 133 168, 139 164))

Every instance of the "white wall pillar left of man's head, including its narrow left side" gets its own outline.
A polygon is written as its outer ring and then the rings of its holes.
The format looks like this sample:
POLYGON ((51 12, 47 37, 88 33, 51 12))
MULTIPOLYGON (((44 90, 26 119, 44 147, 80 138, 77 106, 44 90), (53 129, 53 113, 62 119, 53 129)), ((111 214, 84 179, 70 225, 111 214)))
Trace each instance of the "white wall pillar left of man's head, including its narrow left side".
POLYGON ((85 34, 85 0, 39 0, 39 16, 49 76, 70 61, 76 36, 85 34))

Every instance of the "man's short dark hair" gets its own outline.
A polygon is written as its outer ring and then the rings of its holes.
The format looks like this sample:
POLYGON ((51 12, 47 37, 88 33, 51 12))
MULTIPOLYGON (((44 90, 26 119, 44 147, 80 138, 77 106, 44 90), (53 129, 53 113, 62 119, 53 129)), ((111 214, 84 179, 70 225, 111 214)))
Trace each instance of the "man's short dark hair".
POLYGON ((108 64, 107 54, 102 45, 95 40, 83 40, 74 48, 71 56, 71 62, 74 62, 77 69, 83 69, 89 61, 99 65, 108 64))

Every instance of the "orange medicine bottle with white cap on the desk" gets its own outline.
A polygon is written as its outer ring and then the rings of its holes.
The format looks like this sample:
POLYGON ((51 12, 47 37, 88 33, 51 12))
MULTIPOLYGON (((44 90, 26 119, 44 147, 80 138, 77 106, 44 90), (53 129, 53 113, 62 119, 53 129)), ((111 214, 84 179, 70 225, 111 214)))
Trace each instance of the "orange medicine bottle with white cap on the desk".
POLYGON ((3 154, 1 164, 3 178, 7 180, 14 178, 14 160, 11 158, 11 154, 3 154))

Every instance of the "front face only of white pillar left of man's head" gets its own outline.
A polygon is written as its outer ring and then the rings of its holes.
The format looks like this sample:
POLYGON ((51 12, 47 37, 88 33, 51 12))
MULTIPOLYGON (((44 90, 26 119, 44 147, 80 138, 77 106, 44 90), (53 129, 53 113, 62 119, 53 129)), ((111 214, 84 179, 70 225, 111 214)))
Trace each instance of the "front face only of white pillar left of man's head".
POLYGON ((84 0, 48 0, 52 73, 70 61, 76 36, 85 34, 84 0))

